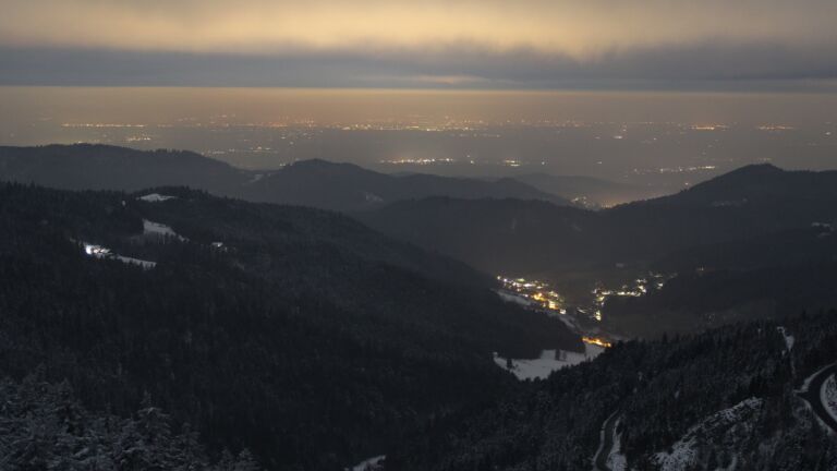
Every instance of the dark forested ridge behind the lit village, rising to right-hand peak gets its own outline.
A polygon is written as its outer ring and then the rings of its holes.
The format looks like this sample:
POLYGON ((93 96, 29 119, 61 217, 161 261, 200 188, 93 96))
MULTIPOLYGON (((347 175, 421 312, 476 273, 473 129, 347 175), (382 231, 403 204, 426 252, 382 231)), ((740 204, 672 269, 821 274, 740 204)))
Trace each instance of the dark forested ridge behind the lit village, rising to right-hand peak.
POLYGON ((525 274, 650 263, 696 246, 830 225, 837 221, 835 189, 837 172, 750 166, 671 196, 601 212, 535 201, 434 197, 357 217, 483 270, 525 274))

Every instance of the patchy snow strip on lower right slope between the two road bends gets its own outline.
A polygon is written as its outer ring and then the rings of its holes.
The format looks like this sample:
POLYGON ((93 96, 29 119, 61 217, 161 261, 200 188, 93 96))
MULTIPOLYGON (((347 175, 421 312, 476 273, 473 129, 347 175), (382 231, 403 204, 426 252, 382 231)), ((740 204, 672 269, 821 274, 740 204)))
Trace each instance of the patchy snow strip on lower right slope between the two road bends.
MULTIPOLYGON (((698 458, 698 443, 700 437, 707 437, 718 433, 724 434, 724 442, 735 440, 735 434, 730 432, 736 424, 744 426, 749 415, 762 407, 762 400, 750 398, 732 406, 729 409, 716 412, 698 425, 692 426, 677 443, 670 447, 670 452, 660 451, 654 456, 660 469, 666 471, 686 471, 692 469, 698 458)), ((747 435, 747 434, 744 434, 747 435)))

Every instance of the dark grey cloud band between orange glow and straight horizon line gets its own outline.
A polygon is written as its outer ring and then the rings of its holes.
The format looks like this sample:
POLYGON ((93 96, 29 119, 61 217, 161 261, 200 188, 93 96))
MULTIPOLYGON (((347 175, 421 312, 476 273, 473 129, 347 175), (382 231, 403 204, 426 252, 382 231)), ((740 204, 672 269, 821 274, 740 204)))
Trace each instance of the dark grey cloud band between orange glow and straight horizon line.
POLYGON ((282 55, 4 47, 0 84, 822 89, 837 78, 835 51, 723 41, 605 51, 595 59, 475 44, 282 55))

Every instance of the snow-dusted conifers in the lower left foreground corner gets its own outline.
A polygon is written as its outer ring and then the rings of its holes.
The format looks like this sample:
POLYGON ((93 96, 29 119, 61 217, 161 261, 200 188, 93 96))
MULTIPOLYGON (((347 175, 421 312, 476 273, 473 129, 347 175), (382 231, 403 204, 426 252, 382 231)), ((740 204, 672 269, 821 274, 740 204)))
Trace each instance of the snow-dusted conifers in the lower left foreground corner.
POLYGON ((129 418, 84 408, 72 387, 45 382, 43 370, 22 382, 0 381, 0 468, 24 470, 201 470, 257 471, 248 450, 229 450, 215 462, 187 424, 171 418, 146 396, 129 418))

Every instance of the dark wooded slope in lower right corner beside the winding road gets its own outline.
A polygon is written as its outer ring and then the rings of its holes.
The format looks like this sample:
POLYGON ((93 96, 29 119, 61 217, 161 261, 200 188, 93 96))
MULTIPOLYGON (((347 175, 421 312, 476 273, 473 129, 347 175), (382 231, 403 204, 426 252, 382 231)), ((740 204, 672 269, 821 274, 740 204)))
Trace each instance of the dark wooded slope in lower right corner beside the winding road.
POLYGON ((786 321, 619 343, 427 430, 391 461, 448 471, 834 470, 837 440, 797 390, 837 360, 837 312, 786 321), (594 463, 608 418, 616 447, 594 463))

